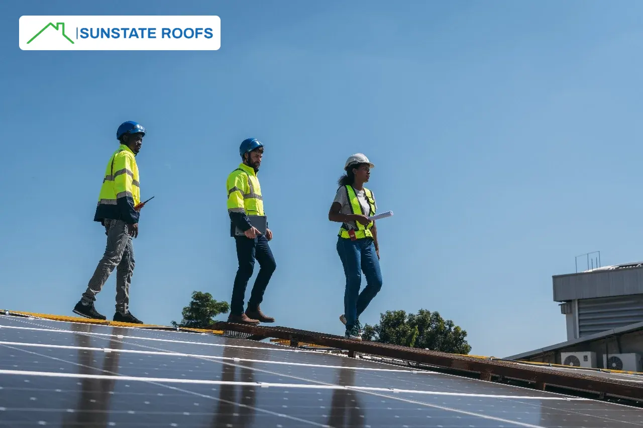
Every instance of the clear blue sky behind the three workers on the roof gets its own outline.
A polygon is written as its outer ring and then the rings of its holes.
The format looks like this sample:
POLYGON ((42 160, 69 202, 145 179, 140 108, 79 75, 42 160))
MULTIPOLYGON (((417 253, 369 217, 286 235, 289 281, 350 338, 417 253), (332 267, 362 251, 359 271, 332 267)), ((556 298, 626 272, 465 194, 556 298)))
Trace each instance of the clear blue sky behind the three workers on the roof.
MULTIPOLYGON (((278 325, 342 334, 327 220, 345 159, 376 164, 380 312, 437 310, 472 353, 565 340, 552 275, 600 250, 643 259, 643 4, 637 1, 80 1, 0 6, 0 307, 72 315, 105 235, 93 222, 122 121, 149 134, 131 310, 180 321, 229 301, 225 181, 242 139, 260 181, 278 325), (21 15, 221 17, 219 51, 21 51, 21 15)), ((255 270, 256 275, 257 270, 255 270)), ((113 316, 114 280, 96 307, 113 316)), ((251 287, 252 281, 248 287, 251 287)), ((220 317, 224 319, 224 316, 220 317)))

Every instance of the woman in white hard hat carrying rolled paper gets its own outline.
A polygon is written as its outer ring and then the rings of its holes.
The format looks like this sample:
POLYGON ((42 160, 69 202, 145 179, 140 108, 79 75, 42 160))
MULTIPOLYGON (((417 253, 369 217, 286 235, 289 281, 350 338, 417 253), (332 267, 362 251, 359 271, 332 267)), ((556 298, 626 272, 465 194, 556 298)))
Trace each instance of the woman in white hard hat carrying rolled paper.
POLYGON ((344 267, 346 289, 340 320, 346 325, 345 337, 356 341, 361 341, 362 334, 359 316, 382 287, 377 229, 375 222, 368 220, 375 215, 377 204, 373 192, 364 187, 374 167, 364 154, 350 156, 328 213, 329 220, 341 223, 337 252, 344 267), (362 271, 367 286, 360 293, 362 271))

